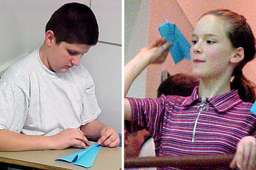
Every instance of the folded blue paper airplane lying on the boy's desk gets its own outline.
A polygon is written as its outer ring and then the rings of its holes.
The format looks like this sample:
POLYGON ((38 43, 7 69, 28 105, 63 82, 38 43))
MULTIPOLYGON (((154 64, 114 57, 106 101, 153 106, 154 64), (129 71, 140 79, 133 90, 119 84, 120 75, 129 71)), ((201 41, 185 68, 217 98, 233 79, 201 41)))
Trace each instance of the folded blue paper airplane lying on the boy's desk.
POLYGON ((80 151, 74 152, 72 154, 63 156, 61 158, 55 159, 62 162, 72 163, 74 165, 79 165, 81 167, 89 168, 92 167, 94 160, 100 151, 101 146, 94 144, 80 151))

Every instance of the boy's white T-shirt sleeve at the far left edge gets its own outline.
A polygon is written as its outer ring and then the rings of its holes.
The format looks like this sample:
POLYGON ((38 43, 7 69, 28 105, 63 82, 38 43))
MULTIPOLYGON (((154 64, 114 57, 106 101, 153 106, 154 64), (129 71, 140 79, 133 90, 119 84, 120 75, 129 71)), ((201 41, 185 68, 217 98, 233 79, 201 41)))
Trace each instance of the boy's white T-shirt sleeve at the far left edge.
POLYGON ((20 133, 28 112, 28 99, 15 84, 0 82, 0 129, 20 133))

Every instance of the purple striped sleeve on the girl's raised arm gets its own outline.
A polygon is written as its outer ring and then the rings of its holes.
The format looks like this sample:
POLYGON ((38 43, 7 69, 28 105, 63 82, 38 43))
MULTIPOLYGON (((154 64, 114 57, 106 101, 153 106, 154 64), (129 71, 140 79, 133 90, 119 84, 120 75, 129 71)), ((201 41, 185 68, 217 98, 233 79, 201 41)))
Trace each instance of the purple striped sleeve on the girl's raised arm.
POLYGON ((166 96, 158 99, 129 98, 132 123, 150 131, 153 137, 162 131, 166 96))

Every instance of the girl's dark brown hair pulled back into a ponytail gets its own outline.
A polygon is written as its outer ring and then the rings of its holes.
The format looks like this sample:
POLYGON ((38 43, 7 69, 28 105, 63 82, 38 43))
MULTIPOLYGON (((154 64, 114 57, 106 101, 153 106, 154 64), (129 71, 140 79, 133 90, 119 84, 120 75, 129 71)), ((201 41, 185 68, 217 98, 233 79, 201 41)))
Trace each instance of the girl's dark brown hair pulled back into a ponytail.
POLYGON ((238 90, 238 94, 243 101, 253 103, 255 101, 255 85, 250 82, 242 72, 246 63, 255 57, 255 37, 253 31, 251 31, 250 25, 246 22, 246 18, 243 15, 226 9, 209 11, 203 14, 201 18, 205 15, 219 16, 230 23, 231 27, 227 35, 233 47, 242 47, 244 50, 243 60, 234 68, 232 74, 234 79, 230 87, 231 89, 238 90))

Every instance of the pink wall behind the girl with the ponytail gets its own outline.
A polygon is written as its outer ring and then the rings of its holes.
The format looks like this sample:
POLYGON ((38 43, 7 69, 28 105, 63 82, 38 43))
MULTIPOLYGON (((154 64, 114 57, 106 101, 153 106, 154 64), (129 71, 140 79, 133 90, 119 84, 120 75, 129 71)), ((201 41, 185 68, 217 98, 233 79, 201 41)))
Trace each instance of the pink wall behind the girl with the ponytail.
MULTIPOLYGON (((173 22, 179 27, 180 31, 187 39, 191 40, 193 27, 197 19, 209 10, 216 8, 228 8, 236 11, 247 18, 247 22, 256 33, 255 8, 256 1, 250 0, 151 0, 150 14, 148 24, 148 44, 154 42, 160 37, 158 27, 166 22, 173 22), (216 3, 217 2, 217 3, 216 3)), ((243 69, 243 73, 256 84, 256 59, 248 63, 243 69)), ((187 73, 191 74, 191 65, 189 61, 181 61, 174 64, 170 54, 163 64, 148 66, 146 71, 146 97, 156 97, 156 90, 160 84, 160 75, 163 70, 170 74, 187 73)))

